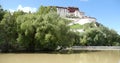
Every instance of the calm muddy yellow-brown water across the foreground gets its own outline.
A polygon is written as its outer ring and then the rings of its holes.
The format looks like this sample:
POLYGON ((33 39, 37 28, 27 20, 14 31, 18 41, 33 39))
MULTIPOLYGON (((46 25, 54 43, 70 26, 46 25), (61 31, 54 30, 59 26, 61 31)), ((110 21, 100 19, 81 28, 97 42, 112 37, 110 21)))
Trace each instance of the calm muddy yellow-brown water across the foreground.
POLYGON ((0 54, 0 63, 120 63, 120 51, 79 54, 0 54))

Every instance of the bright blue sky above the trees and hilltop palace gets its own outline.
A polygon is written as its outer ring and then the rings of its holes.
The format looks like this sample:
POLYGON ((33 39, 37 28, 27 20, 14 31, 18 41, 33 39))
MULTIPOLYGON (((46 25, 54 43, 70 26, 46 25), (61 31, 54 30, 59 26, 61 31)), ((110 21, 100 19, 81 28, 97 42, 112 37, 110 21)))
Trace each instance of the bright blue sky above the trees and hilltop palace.
POLYGON ((120 0, 0 0, 0 4, 7 10, 16 10, 19 6, 38 9, 41 5, 79 7, 86 15, 120 34, 120 0))

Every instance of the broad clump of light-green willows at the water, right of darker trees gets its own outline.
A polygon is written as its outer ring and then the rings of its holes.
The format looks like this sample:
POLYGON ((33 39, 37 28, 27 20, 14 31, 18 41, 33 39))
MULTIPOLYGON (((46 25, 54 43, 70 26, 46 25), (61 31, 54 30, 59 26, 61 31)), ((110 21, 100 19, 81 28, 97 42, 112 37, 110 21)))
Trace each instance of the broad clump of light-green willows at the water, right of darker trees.
MULTIPOLYGON (((56 13, 46 15, 28 14, 17 18, 17 41, 27 50, 56 50, 73 45, 68 20, 56 13)), ((73 33, 74 34, 74 33, 73 33)))

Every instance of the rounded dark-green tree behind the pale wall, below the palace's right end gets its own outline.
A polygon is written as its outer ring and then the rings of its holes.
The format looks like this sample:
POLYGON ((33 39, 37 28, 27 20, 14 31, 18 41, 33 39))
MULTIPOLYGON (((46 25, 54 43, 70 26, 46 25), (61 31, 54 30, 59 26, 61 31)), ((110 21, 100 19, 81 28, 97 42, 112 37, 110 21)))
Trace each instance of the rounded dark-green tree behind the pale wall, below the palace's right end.
POLYGON ((86 46, 102 46, 105 35, 98 28, 91 28, 81 37, 81 44, 86 46))

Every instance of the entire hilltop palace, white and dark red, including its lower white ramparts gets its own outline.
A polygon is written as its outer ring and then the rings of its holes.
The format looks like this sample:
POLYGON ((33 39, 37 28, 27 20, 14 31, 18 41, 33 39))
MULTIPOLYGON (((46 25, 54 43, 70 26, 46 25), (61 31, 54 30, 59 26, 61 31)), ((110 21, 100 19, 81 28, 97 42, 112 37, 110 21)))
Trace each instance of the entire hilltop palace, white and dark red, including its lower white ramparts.
POLYGON ((91 23, 96 22, 96 18, 85 16, 85 13, 80 11, 77 7, 59 7, 57 8, 57 14, 59 14, 61 17, 65 17, 69 20, 73 20, 73 22, 70 24, 85 24, 85 23, 91 23))

